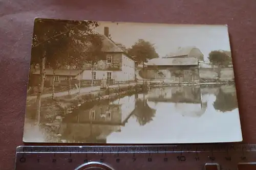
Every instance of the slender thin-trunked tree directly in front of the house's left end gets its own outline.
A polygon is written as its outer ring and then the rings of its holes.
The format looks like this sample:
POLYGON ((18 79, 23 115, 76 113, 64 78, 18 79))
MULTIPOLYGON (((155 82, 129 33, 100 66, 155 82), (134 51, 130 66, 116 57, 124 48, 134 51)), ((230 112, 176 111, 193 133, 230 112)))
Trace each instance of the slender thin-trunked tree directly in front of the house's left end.
POLYGON ((99 34, 90 34, 87 36, 87 39, 89 40, 89 44, 87 47, 87 50, 84 52, 84 55, 86 56, 86 62, 89 63, 92 66, 92 84, 93 86, 93 72, 94 72, 94 65, 97 64, 100 60, 105 60, 106 55, 102 51, 103 47, 103 37, 99 34))

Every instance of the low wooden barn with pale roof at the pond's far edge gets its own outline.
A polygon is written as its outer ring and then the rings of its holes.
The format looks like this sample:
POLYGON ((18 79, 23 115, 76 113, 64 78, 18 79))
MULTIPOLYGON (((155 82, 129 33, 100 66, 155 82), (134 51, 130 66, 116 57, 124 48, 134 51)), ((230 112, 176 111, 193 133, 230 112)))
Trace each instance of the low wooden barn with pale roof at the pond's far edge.
POLYGON ((144 78, 173 83, 198 83, 199 64, 195 58, 154 58, 147 62, 144 78))

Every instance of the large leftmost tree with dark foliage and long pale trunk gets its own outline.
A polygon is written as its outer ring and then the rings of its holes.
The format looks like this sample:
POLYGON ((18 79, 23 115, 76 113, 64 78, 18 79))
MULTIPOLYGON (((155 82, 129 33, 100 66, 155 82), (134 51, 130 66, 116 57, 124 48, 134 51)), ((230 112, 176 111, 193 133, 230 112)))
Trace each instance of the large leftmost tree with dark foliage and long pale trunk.
MULTIPOLYGON (((70 48, 86 41, 85 34, 92 34, 93 29, 98 27, 95 21, 72 21, 54 19, 35 19, 32 39, 31 65, 39 64, 40 79, 39 92, 37 95, 37 114, 40 114, 41 93, 44 91, 45 67, 54 67, 57 63, 67 63, 68 56, 56 57, 56 51, 67 54, 70 48)), ((69 60, 70 61, 70 60, 69 60)))

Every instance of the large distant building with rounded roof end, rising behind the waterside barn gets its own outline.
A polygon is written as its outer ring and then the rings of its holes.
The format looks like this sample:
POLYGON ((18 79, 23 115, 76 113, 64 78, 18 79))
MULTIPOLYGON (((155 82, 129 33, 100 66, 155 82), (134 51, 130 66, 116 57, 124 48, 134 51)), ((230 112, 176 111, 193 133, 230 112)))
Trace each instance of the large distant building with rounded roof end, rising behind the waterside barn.
POLYGON ((196 46, 179 47, 175 53, 170 53, 163 58, 195 58, 204 62, 204 55, 196 46))

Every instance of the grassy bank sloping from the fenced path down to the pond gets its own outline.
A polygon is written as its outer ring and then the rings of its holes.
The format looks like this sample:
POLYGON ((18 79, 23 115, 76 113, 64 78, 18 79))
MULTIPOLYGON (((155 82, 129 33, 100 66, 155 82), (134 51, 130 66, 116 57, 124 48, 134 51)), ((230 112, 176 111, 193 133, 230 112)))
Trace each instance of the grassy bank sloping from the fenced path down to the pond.
MULTIPOLYGON (((90 93, 73 94, 69 96, 59 96, 54 100, 51 98, 41 99, 40 116, 41 120, 55 119, 56 116, 61 116, 71 113, 86 102, 103 102, 107 100, 116 100, 121 96, 132 95, 143 92, 147 88, 143 84, 133 85, 129 87, 117 87, 99 89, 90 93)), ((36 113, 36 100, 27 100, 26 117, 34 118, 36 113)), ((49 120, 47 120, 49 122, 49 120)))

